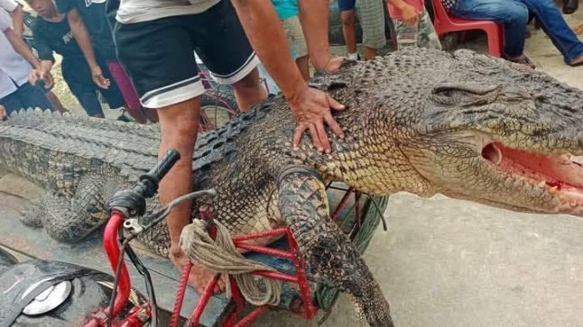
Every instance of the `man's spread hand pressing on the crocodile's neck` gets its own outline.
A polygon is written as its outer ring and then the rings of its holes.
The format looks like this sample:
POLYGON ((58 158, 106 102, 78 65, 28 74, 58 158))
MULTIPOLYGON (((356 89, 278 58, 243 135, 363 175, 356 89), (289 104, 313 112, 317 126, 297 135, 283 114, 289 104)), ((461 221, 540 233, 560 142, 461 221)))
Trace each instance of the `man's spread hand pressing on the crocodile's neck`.
POLYGON ((343 104, 339 104, 330 95, 309 86, 305 86, 301 92, 289 99, 292 114, 298 121, 298 126, 293 133, 293 148, 297 148, 301 141, 301 135, 306 130, 310 131, 311 140, 320 152, 329 153, 331 150, 328 134, 324 123, 328 123, 332 132, 339 138, 344 138, 344 132, 340 125, 332 118, 330 108, 343 110, 343 104))

